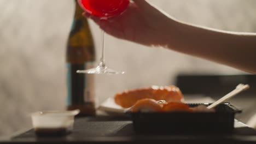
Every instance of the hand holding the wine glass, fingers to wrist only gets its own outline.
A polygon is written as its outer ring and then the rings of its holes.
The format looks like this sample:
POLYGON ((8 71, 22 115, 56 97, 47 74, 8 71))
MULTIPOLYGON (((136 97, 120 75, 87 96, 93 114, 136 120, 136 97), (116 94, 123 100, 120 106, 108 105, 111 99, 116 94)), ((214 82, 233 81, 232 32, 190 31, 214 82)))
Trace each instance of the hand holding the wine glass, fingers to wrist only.
POLYGON ((146 0, 133 0, 123 14, 108 20, 89 13, 83 15, 94 20, 106 33, 120 39, 148 46, 165 46, 170 40, 170 17, 146 0))

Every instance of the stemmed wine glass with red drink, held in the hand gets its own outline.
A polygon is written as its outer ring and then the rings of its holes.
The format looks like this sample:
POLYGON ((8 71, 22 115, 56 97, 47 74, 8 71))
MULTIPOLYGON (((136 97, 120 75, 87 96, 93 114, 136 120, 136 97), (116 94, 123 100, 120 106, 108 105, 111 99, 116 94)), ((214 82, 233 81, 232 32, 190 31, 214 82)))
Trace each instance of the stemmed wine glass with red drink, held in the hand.
MULTIPOLYGON (((80 6, 86 13, 100 17, 102 20, 107 20, 109 17, 122 14, 130 3, 130 0, 78 0, 80 6)), ((102 55, 100 62, 96 68, 88 70, 78 70, 77 73, 86 74, 124 74, 124 71, 117 71, 106 66, 104 60, 104 31, 102 31, 102 55)))

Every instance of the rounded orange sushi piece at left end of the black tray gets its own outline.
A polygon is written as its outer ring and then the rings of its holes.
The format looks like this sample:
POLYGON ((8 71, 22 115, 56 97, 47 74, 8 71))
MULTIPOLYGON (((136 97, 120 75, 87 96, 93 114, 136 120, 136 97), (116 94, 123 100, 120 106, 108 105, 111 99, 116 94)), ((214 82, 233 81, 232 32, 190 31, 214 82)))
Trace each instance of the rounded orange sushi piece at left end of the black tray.
POLYGON ((162 106, 154 99, 141 99, 132 106, 131 112, 161 112, 162 106))

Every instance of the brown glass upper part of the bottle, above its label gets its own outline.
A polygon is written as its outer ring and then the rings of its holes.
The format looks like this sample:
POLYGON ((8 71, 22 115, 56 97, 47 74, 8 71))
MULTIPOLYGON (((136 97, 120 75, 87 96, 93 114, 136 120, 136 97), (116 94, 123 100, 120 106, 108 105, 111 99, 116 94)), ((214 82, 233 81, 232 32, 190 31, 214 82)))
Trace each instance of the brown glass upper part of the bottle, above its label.
POLYGON ((88 20, 82 16, 83 9, 75 2, 75 15, 67 42, 67 62, 83 64, 95 60, 94 41, 88 20))

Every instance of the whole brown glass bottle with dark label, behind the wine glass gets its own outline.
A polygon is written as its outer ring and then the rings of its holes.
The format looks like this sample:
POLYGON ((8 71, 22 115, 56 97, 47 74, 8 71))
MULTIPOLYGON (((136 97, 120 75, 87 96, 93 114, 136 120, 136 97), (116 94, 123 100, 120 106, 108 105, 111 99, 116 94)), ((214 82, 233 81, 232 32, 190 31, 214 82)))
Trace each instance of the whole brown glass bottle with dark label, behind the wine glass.
POLYGON ((67 110, 79 109, 80 115, 95 115, 93 74, 77 74, 77 70, 94 67, 95 47, 83 9, 75 1, 75 15, 67 41, 67 110))

